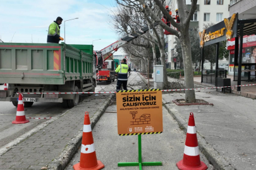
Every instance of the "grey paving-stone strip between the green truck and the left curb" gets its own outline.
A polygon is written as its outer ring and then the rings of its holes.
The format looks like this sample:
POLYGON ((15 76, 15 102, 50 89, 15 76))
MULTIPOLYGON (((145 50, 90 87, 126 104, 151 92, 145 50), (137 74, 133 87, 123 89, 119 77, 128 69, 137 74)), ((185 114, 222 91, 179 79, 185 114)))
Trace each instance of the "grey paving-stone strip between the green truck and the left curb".
POLYGON ((85 111, 90 118, 104 113, 112 94, 94 94, 66 111, 32 136, 15 145, 0 157, 0 169, 41 169, 54 161, 83 127, 85 111))

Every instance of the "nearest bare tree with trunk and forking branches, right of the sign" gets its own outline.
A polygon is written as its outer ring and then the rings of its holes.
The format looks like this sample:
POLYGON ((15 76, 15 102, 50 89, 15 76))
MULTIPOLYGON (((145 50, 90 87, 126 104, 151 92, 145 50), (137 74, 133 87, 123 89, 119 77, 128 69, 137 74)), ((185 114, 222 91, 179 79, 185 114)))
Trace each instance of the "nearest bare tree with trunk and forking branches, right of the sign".
MULTIPOLYGON (((180 23, 176 23, 171 15, 166 11, 164 8, 164 5, 161 0, 154 0, 155 4, 161 9, 162 13, 168 18, 168 20, 171 22, 171 25, 173 25, 177 30, 174 30, 170 28, 168 25, 166 25, 163 21, 160 20, 159 16, 157 16, 152 9, 150 9, 150 3, 149 1, 145 0, 138 0, 140 4, 142 4, 143 9, 147 11, 149 16, 159 22, 159 24, 167 30, 169 33, 172 33, 173 35, 176 35, 180 39, 181 42, 181 49, 183 54, 183 65, 184 65, 184 73, 185 73, 185 87, 192 89, 194 88, 193 84, 193 67, 192 67, 192 54, 191 54, 191 45, 190 45, 190 36, 188 33, 188 28, 190 24, 190 18, 192 18, 193 13, 197 9, 197 0, 192 0, 191 9, 186 9, 186 1, 180 0, 177 1, 178 4, 178 11, 180 16, 180 23)), ((189 103, 195 102, 195 91, 194 90, 188 90, 185 91, 185 101, 189 103)))

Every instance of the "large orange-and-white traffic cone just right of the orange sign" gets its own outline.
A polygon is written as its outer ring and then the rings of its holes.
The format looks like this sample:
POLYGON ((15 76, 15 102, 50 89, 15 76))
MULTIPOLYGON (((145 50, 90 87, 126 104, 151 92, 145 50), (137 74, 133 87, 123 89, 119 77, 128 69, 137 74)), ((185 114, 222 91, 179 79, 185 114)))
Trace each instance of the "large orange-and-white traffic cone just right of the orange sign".
POLYGON ((190 113, 190 118, 188 120, 188 130, 186 132, 186 143, 183 159, 177 162, 176 166, 178 166, 178 169, 182 170, 205 170, 208 168, 204 162, 200 161, 197 131, 195 130, 193 113, 190 113))

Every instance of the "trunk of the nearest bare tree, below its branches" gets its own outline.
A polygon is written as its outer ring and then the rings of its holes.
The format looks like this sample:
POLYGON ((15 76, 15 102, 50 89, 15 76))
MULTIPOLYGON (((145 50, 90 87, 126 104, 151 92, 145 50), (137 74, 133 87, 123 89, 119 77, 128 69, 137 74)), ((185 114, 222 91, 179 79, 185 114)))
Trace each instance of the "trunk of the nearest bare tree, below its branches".
MULTIPOLYGON (((181 42, 181 49, 182 49, 182 55, 183 55, 185 87, 188 89, 193 89, 194 88, 193 67, 192 67, 192 56, 191 56, 191 44, 190 44, 188 29, 183 30, 183 33, 180 35, 180 42, 181 42)), ((185 91, 185 101, 188 103, 195 102, 194 90, 185 91)))

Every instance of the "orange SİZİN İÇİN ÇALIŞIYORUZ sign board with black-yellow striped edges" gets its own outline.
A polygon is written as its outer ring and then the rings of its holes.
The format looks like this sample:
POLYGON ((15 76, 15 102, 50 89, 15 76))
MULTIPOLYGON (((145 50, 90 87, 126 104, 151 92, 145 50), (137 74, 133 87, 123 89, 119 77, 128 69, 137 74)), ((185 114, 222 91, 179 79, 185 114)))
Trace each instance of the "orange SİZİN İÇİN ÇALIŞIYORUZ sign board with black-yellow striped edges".
POLYGON ((162 133, 162 91, 159 89, 116 93, 118 134, 162 133))

